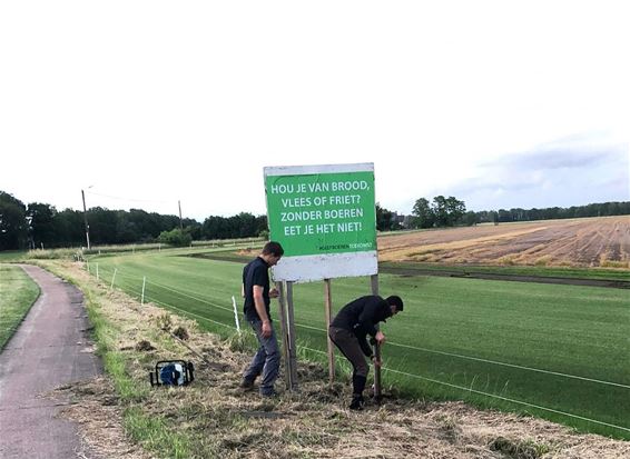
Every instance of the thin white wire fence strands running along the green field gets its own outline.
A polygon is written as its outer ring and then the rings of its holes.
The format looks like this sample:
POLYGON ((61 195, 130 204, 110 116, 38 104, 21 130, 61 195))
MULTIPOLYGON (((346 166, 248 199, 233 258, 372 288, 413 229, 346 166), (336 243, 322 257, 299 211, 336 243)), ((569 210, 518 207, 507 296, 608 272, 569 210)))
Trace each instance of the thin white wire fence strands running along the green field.
MULTIPOLYGON (((88 270, 89 270, 89 268, 88 268, 88 270)), ((126 279, 127 281, 138 282, 139 285, 142 283, 142 277, 138 278, 136 276, 127 276, 125 273, 121 273, 118 270, 117 271, 109 271, 109 270, 104 270, 102 268, 99 271, 100 276, 107 276, 108 272, 110 273, 111 288, 115 287, 115 285, 114 285, 114 273, 115 272, 116 272, 117 279, 126 279)), ((102 280, 102 281, 105 283, 105 280, 102 280)), ((106 285, 109 286, 109 282, 107 282, 106 285)), ((178 289, 176 287, 165 286, 163 283, 154 282, 154 281, 149 281, 149 280, 146 281, 146 285, 147 286, 151 285, 151 286, 155 286, 157 288, 164 289, 164 290, 173 293, 175 297, 190 299, 190 300, 194 300, 194 301, 198 301, 199 303, 203 303, 203 305, 211 306, 213 308, 216 308, 216 309, 219 309, 219 310, 228 311, 228 312, 230 312, 230 315, 234 312, 234 308, 228 308, 228 307, 218 305, 214 301, 209 301, 208 299, 199 298, 198 296, 190 295, 190 293, 188 293, 188 292, 186 292, 181 289, 178 289)), ((141 293, 134 290, 131 287, 129 287, 129 286, 120 286, 120 287, 124 291, 126 291, 128 293, 132 293, 137 299, 140 299, 141 293)), ((164 307, 168 310, 177 311, 178 313, 181 313, 185 317, 195 318, 195 319, 198 319, 198 320, 201 320, 201 321, 205 321, 205 322, 209 322, 209 323, 219 326, 222 328, 227 328, 229 330, 236 330, 237 329, 236 325, 234 325, 234 323, 220 322, 220 321, 214 320, 214 319, 211 319, 207 316, 201 316, 201 315, 191 312, 189 310, 181 309, 181 308, 179 308, 175 305, 168 303, 168 302, 166 302, 166 301, 164 301, 159 298, 156 298, 154 296, 149 296, 149 295, 145 293, 144 298, 145 298, 145 302, 150 301, 150 302, 159 305, 159 306, 161 306, 161 307, 164 307)), ((307 325, 297 323, 297 322, 295 323, 295 326, 326 335, 326 330, 323 329, 323 328, 307 326, 307 325)), ((252 330, 247 330, 247 332, 254 335, 252 330)), ((588 382, 592 382, 592 383, 597 383, 597 385, 603 385, 603 386, 613 386, 613 387, 618 387, 618 388, 621 388, 621 389, 630 389, 629 385, 623 385, 623 383, 618 383, 618 382, 612 382, 612 381, 606 381, 606 380, 593 379, 593 378, 585 378, 585 377, 559 372, 559 371, 544 370, 544 369, 540 369, 540 368, 532 368, 532 367, 525 367, 525 366, 520 366, 520 365, 514 365, 514 363, 509 363, 509 362, 489 360, 489 359, 483 359, 483 358, 474 357, 474 356, 463 356, 463 355, 457 355, 457 353, 453 353, 453 352, 445 352, 445 351, 441 351, 441 350, 416 347, 416 346, 411 346, 411 345, 396 343, 394 341, 387 341, 387 343, 388 343, 388 346, 393 346, 393 347, 396 347, 396 348, 400 348, 400 349, 411 349, 411 350, 416 350, 416 351, 421 351, 421 352, 429 352, 429 353, 434 353, 434 355, 452 357, 452 358, 456 358, 456 359, 479 361, 479 362, 493 365, 493 366, 500 366, 500 367, 509 367, 509 368, 514 368, 514 369, 519 369, 519 370, 523 370, 523 371, 532 371, 532 372, 551 375, 551 376, 561 377, 561 378, 582 380, 582 381, 588 381, 588 382)), ((314 348, 311 348, 311 347, 307 347, 307 346, 304 346, 304 345, 301 345, 301 343, 297 345, 297 348, 313 352, 315 355, 327 356, 326 351, 323 351, 323 350, 319 350, 319 349, 314 349, 314 348)), ((560 416, 564 416, 564 417, 568 417, 568 418, 578 419, 578 420, 581 420, 581 421, 591 422, 591 423, 595 423, 595 425, 608 427, 608 428, 619 429, 619 430, 624 431, 624 432, 630 432, 630 429, 627 428, 627 427, 623 427, 623 426, 618 426, 618 425, 614 425, 614 423, 604 422, 604 421, 601 421, 601 420, 598 420, 598 419, 592 419, 592 418, 570 413, 570 412, 567 412, 567 411, 562 411, 562 410, 558 410, 558 409, 531 403, 531 402, 523 401, 523 400, 518 400, 518 399, 514 399, 514 398, 500 396, 500 395, 496 395, 496 393, 476 390, 476 389, 473 389, 472 386, 465 387, 465 386, 461 386, 461 385, 455 385, 455 383, 452 383, 452 382, 446 382, 446 381, 437 380, 437 379, 434 379, 434 378, 429 378, 429 377, 421 376, 421 375, 405 372, 405 371, 402 371, 401 369, 387 368, 385 366, 382 367, 382 370, 390 372, 390 373, 393 373, 393 375, 402 376, 402 377, 405 377, 405 378, 408 378, 408 379, 422 380, 422 381, 425 381, 425 382, 447 387, 447 388, 455 389, 455 390, 459 390, 459 391, 463 391, 463 392, 467 392, 467 393, 475 393, 478 396, 482 396, 482 397, 485 397, 485 398, 501 400, 501 401, 513 403, 513 405, 516 405, 516 406, 520 406, 520 407, 533 408, 533 409, 538 409, 538 410, 541 410, 541 411, 551 412, 551 413, 554 413, 554 415, 560 415, 560 416)), ((629 393, 629 397, 630 397, 630 393, 629 393)))

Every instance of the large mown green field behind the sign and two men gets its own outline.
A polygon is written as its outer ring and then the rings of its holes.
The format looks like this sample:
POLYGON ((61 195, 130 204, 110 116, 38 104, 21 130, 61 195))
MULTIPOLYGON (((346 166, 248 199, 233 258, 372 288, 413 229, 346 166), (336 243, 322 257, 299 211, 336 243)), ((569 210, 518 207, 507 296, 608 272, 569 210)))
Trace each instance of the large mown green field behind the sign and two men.
MULTIPOLYGON (((243 263, 190 250, 109 256, 90 272, 146 301, 234 332, 243 263)), ((624 289, 440 277, 380 276, 405 310, 383 330, 384 383, 411 397, 463 399, 630 439, 630 292, 624 289)), ((370 293, 370 279, 335 279, 334 309, 370 293)), ((302 356, 324 361, 324 287, 297 285, 302 356), (308 350, 312 349, 312 350, 308 350)), ((277 312, 277 308, 274 308, 277 312)))

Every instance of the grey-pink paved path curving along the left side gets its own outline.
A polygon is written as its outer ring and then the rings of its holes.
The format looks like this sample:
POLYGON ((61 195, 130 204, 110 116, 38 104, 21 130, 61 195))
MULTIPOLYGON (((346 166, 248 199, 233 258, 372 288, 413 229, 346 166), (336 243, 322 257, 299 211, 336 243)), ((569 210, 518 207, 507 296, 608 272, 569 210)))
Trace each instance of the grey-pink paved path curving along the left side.
POLYGON ((43 397, 102 373, 79 289, 22 265, 40 297, 0 355, 0 458, 92 458, 77 426, 59 416, 69 401, 43 397))

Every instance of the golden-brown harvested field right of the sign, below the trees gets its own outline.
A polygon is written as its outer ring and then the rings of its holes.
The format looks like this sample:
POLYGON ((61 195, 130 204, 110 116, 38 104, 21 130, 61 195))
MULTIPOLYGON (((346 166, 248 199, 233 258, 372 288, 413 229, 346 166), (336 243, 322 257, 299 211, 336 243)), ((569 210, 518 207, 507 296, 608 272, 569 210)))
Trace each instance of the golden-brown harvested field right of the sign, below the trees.
POLYGON ((630 268, 630 216, 382 236, 381 261, 630 268))

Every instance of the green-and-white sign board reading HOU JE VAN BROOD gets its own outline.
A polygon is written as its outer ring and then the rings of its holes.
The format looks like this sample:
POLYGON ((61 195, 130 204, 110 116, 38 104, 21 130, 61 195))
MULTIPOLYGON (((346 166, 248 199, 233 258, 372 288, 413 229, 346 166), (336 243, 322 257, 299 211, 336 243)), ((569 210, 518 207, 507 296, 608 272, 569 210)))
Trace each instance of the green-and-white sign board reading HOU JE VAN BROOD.
MULTIPOLYGON (((285 263, 327 265, 314 267, 324 273, 297 276, 299 279, 358 276, 357 268, 346 270, 337 265, 362 263, 364 257, 348 257, 360 252, 370 252, 367 271, 373 273, 372 258, 376 253, 373 164, 265 168, 265 189, 270 239, 285 249, 285 263), (335 255, 346 256, 341 259, 335 255), (295 260, 293 257, 319 258, 295 260)), ((360 275, 364 270, 358 269, 360 275)))

